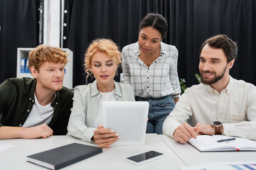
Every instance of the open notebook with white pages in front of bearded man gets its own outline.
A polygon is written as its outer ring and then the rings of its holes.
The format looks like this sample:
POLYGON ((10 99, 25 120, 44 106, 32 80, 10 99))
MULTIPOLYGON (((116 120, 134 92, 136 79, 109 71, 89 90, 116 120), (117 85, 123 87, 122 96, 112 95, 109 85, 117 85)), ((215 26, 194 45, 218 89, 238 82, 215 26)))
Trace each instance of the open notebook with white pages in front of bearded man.
POLYGON ((223 152, 223 151, 256 151, 256 141, 242 137, 235 137, 235 140, 226 140, 233 137, 225 135, 198 135, 196 140, 191 139, 188 143, 196 147, 200 152, 223 152))

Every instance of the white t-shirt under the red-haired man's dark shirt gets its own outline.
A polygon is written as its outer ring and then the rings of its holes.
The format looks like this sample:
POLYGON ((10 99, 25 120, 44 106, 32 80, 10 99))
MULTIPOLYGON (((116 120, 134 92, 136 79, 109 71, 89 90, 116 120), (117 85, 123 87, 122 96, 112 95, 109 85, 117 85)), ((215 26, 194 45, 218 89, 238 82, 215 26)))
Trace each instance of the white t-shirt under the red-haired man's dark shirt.
MULTIPOLYGON (((50 123, 50 120, 53 118, 53 107, 50 106, 50 103, 46 106, 41 106, 41 104, 38 103, 38 100, 35 96, 35 103, 33 104, 31 113, 29 113, 28 118, 26 119, 25 123, 22 127, 33 127, 36 125, 46 124, 48 125, 50 123)), ((56 97, 56 93, 54 98, 56 97)), ((53 98, 53 100, 54 100, 53 98)))

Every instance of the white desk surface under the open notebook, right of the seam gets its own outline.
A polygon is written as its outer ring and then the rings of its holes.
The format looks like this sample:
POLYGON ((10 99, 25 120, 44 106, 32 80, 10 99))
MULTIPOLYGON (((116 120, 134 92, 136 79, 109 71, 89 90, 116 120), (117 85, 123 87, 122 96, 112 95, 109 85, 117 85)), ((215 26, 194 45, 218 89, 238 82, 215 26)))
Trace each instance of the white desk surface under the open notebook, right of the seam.
POLYGON ((166 135, 159 135, 161 139, 176 153, 186 164, 200 165, 208 162, 243 162, 255 161, 256 152, 199 152, 188 143, 181 144, 166 135))

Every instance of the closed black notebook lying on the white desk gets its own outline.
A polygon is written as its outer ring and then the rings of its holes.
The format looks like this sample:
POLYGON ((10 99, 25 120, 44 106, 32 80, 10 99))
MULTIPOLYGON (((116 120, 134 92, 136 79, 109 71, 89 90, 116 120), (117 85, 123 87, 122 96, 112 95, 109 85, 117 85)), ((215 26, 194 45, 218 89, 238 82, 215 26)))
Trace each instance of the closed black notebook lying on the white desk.
POLYGON ((102 148, 72 143, 38 154, 31 154, 27 156, 27 161, 48 169, 61 169, 100 153, 102 153, 102 148))

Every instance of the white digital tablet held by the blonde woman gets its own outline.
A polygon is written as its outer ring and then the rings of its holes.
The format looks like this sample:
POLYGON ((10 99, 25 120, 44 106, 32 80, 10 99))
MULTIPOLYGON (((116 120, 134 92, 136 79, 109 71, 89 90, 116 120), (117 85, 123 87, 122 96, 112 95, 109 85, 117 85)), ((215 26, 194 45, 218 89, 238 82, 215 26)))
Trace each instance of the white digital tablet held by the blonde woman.
POLYGON ((149 112, 147 101, 104 101, 103 126, 121 135, 112 145, 144 145, 149 112))

